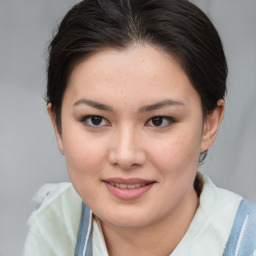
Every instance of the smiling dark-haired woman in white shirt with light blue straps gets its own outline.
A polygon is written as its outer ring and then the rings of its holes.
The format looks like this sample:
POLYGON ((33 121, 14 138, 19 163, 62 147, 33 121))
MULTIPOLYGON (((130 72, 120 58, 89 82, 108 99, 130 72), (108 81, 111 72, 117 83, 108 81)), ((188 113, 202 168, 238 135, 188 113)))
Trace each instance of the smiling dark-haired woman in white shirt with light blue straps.
POLYGON ((48 112, 72 185, 39 191, 25 255, 256 253, 254 207, 198 173, 227 76, 202 11, 82 1, 49 50, 48 112))

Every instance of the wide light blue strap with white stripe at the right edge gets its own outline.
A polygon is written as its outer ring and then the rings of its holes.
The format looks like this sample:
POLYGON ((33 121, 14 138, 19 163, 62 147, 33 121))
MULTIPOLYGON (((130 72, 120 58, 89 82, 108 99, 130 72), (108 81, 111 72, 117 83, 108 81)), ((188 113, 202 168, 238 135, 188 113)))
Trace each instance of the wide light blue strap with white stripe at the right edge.
POLYGON ((255 256, 256 205, 243 199, 223 256, 255 256))

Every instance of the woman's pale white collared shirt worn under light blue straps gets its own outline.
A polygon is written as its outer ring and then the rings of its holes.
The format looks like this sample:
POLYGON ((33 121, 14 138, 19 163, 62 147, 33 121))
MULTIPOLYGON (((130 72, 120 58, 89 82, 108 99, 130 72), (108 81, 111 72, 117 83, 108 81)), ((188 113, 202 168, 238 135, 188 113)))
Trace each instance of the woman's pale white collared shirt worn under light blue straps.
MULTIPOLYGON (((222 256, 241 196, 217 188, 203 175, 200 205, 171 256, 222 256)), ((74 255, 82 200, 71 183, 44 185, 35 197, 40 207, 28 224, 24 256, 74 255)), ((93 255, 108 256, 100 222, 93 221, 93 255)))

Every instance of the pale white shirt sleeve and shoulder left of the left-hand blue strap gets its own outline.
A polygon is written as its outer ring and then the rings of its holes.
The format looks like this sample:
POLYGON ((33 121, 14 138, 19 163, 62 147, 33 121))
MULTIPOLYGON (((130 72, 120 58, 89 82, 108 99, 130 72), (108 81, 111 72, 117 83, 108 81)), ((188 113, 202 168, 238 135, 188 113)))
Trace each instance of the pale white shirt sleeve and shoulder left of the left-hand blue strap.
POLYGON ((74 254, 82 200, 72 184, 46 184, 33 201, 37 209, 28 220, 24 256, 74 254))

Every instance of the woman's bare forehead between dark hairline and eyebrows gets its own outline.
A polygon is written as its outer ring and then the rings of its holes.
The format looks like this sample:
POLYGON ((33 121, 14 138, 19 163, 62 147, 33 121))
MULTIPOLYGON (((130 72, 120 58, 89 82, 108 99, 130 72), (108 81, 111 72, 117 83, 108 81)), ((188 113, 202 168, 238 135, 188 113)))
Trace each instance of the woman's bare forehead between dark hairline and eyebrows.
POLYGON ((83 59, 73 69, 65 95, 108 102, 118 97, 134 102, 199 97, 174 57, 146 45, 104 49, 83 59))

